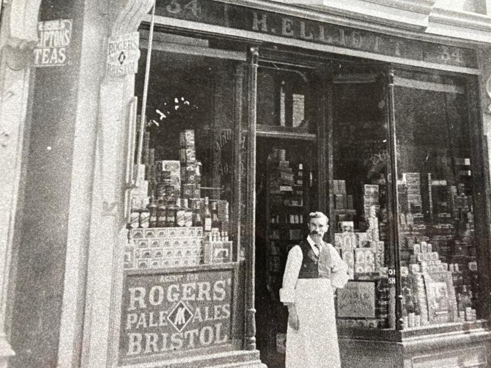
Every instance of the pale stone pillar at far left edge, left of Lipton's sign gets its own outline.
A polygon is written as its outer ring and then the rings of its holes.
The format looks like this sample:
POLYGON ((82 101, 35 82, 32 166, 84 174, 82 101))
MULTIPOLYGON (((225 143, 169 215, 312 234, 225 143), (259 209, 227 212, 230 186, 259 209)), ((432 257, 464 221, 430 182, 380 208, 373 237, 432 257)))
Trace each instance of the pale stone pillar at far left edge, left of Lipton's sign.
POLYGON ((5 335, 14 220, 17 208, 32 49, 41 0, 3 2, 0 25, 0 368, 14 355, 5 335))

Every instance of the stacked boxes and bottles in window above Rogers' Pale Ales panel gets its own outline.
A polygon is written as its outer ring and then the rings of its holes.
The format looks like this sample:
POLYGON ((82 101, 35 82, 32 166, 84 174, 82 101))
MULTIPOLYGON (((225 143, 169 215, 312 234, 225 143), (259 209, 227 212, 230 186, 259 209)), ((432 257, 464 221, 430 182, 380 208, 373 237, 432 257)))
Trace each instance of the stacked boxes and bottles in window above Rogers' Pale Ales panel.
POLYGON ((201 197, 194 130, 181 132, 180 147, 180 160, 156 161, 153 149, 143 155, 138 188, 131 193, 126 269, 232 261, 229 203, 201 197))

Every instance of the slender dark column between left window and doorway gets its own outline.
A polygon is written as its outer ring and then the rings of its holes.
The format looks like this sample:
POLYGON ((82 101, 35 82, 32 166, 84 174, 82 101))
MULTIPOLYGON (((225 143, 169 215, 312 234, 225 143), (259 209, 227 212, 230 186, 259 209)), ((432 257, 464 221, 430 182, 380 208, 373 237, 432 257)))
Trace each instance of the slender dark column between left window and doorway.
POLYGON ((257 103, 257 67, 259 51, 251 47, 248 53, 248 163, 247 194, 245 214, 246 249, 246 293, 245 293, 245 350, 256 349, 256 309, 255 292, 255 229, 256 229, 256 103, 257 103))

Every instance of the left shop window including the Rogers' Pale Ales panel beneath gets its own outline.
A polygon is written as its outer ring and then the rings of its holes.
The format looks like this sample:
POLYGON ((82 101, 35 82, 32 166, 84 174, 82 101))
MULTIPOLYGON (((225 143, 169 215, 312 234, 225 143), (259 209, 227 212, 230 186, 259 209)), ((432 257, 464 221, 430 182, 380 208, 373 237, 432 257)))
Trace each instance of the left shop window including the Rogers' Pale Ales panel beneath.
MULTIPOLYGON (((206 40, 194 40, 194 52, 196 43, 206 51, 206 40)), ((144 70, 141 62, 140 101, 144 70)), ((154 44, 125 247, 123 363, 241 346, 235 199, 244 167, 236 157, 246 144, 235 142, 238 71, 236 62, 166 53, 154 44)))

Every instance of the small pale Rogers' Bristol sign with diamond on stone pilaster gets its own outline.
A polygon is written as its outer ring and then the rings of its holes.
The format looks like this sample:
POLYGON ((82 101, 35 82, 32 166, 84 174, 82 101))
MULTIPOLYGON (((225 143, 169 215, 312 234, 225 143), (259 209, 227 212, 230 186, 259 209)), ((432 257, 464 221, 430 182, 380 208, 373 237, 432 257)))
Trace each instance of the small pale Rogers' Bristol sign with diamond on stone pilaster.
POLYGON ((138 32, 109 37, 107 42, 107 75, 123 77, 137 73, 138 59, 140 59, 139 40, 138 32))

